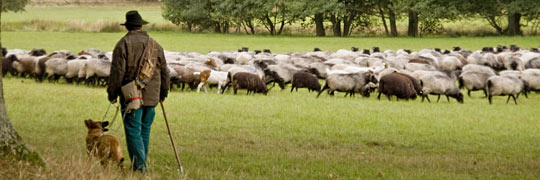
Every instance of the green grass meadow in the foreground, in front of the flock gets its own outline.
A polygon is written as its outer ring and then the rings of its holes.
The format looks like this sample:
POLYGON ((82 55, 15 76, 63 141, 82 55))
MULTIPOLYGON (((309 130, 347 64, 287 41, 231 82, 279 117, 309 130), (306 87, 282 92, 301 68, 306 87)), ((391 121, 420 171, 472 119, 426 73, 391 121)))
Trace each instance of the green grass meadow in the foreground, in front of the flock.
MULTIPOLYGON (((85 158, 83 120, 102 118, 107 108, 105 89, 19 78, 5 78, 4 89, 12 123, 51 167, 30 172, 59 179, 122 178, 118 170, 102 172, 96 162, 85 158)), ((520 97, 519 105, 505 104, 504 97, 489 105, 480 92, 465 98, 465 104, 377 101, 374 95, 343 98, 341 93, 316 99, 315 95, 278 89, 268 96, 170 93, 165 107, 186 178, 540 176, 538 94, 520 97)), ((161 110, 157 114, 149 176, 171 179, 176 164, 161 110)), ((121 125, 115 122, 111 134, 126 151, 121 125)), ((28 170, 8 171, 20 172, 28 170)))

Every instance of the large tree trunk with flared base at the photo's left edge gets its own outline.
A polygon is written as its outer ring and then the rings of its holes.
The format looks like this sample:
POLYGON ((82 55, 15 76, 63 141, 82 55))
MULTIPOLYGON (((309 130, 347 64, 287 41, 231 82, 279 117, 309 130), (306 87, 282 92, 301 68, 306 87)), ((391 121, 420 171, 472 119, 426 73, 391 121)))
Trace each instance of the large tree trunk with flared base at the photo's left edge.
MULTIPOLYGON (((0 1, 0 7, 3 7, 2 1, 0 1)), ((0 10, 0 49, 2 48, 1 34, 2 11, 0 10)), ((4 56, 4 54, 0 51, 0 57, 2 56, 4 56)), ((2 67, 2 61, 0 61, 0 67, 2 67)), ((2 70, 0 69, 0 72, 1 71, 2 70)), ((6 112, 6 102, 4 100, 4 83, 2 81, 2 76, 0 76, 0 156, 2 156, 2 158, 12 156, 18 160, 26 160, 34 164, 46 166, 46 163, 41 159, 41 156, 24 143, 9 121, 6 112)))

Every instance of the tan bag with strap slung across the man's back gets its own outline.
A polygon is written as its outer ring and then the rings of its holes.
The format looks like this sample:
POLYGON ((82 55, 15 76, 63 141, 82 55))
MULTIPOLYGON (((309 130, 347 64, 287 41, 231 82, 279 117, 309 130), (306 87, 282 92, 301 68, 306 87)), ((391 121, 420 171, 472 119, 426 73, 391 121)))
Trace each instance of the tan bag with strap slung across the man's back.
POLYGON ((139 109, 143 104, 142 89, 146 87, 146 83, 152 79, 154 67, 157 63, 157 52, 158 49, 155 48, 154 40, 148 37, 146 48, 144 49, 143 55, 139 60, 135 80, 122 86, 122 94, 124 94, 124 98, 127 101, 127 113, 130 113, 132 110, 139 109))

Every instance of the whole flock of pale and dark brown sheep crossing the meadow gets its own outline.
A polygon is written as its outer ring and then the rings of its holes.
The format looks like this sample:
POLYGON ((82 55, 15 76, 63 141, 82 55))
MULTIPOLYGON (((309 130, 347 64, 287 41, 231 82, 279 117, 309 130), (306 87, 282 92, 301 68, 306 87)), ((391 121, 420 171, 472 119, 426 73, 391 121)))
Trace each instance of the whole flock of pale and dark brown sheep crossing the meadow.
MULTIPOLYGON (((540 90, 539 48, 520 49, 517 46, 485 47, 471 51, 455 47, 452 51, 423 49, 418 52, 400 49, 380 51, 338 50, 272 54, 270 50, 249 51, 242 48, 234 52, 165 52, 171 75, 171 88, 207 91, 208 85, 217 85, 217 93, 229 87, 237 93, 264 93, 268 86, 281 89, 291 84, 291 92, 298 88, 309 91, 345 92, 345 96, 360 93, 369 97, 378 91, 390 100, 416 99, 428 95, 441 95, 463 103, 461 89, 483 91, 492 103, 493 96, 508 96, 517 104, 520 94, 540 90), (321 86, 319 79, 325 79, 321 86)), ((3 75, 11 73, 30 76, 37 81, 58 81, 64 77, 68 83, 106 85, 110 74, 111 52, 96 49, 77 54, 66 50, 47 54, 42 49, 31 51, 12 49, 4 51, 3 75)), ((270 88, 271 89, 271 88, 270 88)))

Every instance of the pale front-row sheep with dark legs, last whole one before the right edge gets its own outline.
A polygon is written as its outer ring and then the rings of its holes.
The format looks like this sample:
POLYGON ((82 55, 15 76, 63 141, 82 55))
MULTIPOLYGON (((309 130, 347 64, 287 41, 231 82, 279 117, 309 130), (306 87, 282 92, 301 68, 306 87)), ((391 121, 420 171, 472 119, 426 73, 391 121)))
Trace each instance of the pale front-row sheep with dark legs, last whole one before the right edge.
POLYGON ((510 97, 512 97, 514 103, 517 104, 516 96, 526 89, 527 84, 514 76, 492 76, 487 80, 486 86, 489 104, 492 104, 493 96, 508 96, 506 104, 508 104, 510 97))

